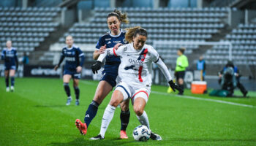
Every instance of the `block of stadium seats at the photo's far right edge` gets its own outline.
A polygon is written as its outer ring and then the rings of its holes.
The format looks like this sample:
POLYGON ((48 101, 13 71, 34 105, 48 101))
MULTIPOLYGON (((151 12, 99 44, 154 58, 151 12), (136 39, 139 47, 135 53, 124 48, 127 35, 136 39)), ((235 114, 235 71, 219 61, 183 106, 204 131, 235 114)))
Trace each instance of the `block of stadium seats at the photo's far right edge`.
MULTIPOLYGON (((256 24, 239 24, 225 39, 233 45, 233 60, 236 65, 256 65, 256 24)), ((214 46, 207 50, 209 64, 225 64, 228 46, 214 46)))

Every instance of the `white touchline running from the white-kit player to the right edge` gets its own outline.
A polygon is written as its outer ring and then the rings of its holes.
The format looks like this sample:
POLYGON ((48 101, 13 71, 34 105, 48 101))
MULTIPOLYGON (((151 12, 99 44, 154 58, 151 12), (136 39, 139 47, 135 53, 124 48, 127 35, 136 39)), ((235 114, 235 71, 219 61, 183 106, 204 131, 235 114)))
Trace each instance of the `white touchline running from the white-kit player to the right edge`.
MULTIPOLYGON (((165 95, 165 96, 173 96, 170 93, 164 93, 164 92, 158 92, 158 91, 151 91, 151 93, 157 93, 157 94, 161 94, 161 95, 165 95)), ((176 96, 176 97, 184 98, 184 99, 195 99, 195 100, 202 100, 202 101, 212 101, 212 102, 218 102, 218 103, 222 103, 222 104, 236 105, 236 106, 240 106, 240 107, 255 108, 255 106, 248 105, 248 104, 238 104, 238 103, 235 103, 235 102, 222 101, 222 100, 216 100, 216 99, 203 99, 203 98, 200 98, 200 97, 193 97, 193 96, 176 96)))

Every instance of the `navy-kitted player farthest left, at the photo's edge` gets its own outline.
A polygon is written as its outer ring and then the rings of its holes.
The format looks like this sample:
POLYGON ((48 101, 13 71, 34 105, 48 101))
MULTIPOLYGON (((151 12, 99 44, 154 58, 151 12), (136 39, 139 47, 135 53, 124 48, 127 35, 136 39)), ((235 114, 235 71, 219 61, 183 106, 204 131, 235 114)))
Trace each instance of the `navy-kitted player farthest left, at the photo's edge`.
POLYGON ((11 91, 14 91, 15 70, 18 69, 17 50, 12 47, 12 41, 6 42, 6 48, 1 52, 1 59, 4 60, 4 76, 6 91, 9 92, 9 77, 11 77, 11 91))

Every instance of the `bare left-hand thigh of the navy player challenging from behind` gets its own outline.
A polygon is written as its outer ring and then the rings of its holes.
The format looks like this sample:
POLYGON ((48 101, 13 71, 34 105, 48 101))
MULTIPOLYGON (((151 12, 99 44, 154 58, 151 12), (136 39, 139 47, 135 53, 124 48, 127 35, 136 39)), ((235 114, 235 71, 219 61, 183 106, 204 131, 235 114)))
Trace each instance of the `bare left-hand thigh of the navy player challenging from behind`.
POLYGON ((110 91, 112 91, 112 85, 105 80, 100 81, 94 94, 94 101, 101 104, 110 91))

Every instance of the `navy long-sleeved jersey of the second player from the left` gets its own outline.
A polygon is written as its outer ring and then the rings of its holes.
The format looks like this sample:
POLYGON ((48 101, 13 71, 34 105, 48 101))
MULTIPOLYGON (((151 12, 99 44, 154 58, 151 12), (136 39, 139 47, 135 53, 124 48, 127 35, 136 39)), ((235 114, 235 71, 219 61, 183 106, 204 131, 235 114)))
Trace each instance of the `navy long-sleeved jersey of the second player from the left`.
MULTIPOLYGON (((84 58, 84 53, 75 45, 73 45, 71 48, 64 47, 62 49, 61 60, 64 58, 66 60, 64 69, 75 71, 78 66, 83 66, 84 59, 80 61, 79 58, 84 58)), ((59 64, 61 64, 61 61, 59 64)))

